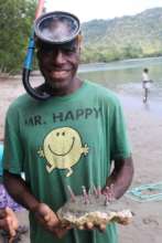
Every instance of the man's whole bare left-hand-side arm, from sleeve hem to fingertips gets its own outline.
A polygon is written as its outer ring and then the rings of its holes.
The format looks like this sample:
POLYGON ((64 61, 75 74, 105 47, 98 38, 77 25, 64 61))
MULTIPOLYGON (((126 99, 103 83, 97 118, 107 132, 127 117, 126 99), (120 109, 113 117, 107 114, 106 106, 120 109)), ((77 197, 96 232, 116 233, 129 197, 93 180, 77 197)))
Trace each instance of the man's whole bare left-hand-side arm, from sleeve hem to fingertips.
POLYGON ((3 182, 11 197, 21 205, 33 212, 39 223, 58 237, 64 235, 66 229, 60 229, 60 220, 52 209, 41 203, 30 191, 25 181, 18 175, 4 170, 3 182))

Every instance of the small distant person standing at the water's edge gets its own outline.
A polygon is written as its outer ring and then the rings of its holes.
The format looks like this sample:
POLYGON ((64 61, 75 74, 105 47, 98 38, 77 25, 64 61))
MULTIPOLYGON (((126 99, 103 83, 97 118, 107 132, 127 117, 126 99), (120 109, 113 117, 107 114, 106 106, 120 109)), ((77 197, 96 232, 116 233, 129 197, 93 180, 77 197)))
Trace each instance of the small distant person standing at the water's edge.
POLYGON ((143 91, 144 91, 143 103, 148 102, 148 95, 149 95, 149 92, 150 92, 151 83, 152 83, 152 81, 149 77, 149 70, 143 68, 143 72, 142 72, 142 87, 143 87, 143 91))

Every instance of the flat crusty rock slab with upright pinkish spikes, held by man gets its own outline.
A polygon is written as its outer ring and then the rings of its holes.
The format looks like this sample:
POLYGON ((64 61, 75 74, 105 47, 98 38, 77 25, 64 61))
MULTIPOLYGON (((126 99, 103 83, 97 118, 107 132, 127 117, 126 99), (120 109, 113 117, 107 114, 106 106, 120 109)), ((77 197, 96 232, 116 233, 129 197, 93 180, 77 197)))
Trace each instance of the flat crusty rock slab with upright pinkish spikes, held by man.
POLYGON ((68 200, 58 211, 57 216, 63 225, 71 224, 77 229, 84 229, 86 223, 95 226, 118 222, 129 224, 132 220, 132 212, 123 209, 121 200, 114 197, 114 186, 107 187, 101 193, 100 187, 87 190, 82 187, 82 194, 75 196, 75 200, 68 200), (88 192, 87 192, 88 191, 88 192))

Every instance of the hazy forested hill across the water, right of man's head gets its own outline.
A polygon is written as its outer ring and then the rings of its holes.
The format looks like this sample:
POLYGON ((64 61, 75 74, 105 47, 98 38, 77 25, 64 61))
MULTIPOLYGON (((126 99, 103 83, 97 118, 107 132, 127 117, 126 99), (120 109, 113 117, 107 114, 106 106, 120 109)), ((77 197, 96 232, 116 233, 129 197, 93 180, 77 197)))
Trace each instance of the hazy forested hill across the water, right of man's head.
POLYGON ((91 20, 82 25, 84 62, 162 54, 162 8, 108 20, 91 20))

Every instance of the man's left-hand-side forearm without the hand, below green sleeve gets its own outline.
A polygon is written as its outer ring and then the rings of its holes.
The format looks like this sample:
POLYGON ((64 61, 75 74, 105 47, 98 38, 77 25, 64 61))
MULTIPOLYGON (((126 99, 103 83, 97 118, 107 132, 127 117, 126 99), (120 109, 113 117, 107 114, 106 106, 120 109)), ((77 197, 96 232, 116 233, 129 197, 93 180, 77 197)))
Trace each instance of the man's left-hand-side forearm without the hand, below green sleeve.
POLYGON ((39 205, 39 200, 31 193, 25 181, 20 177, 4 171, 3 182, 9 194, 21 205, 30 211, 39 205))

